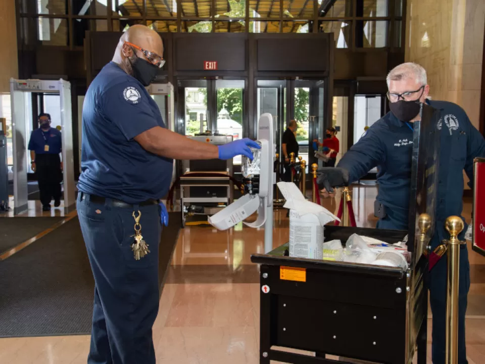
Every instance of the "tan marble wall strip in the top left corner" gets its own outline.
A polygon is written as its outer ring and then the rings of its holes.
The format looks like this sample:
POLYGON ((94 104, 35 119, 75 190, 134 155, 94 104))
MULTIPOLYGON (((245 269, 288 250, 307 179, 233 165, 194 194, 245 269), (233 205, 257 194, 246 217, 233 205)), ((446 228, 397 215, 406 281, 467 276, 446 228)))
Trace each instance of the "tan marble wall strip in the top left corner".
POLYGON ((15 0, 0 0, 0 94, 10 92, 10 77, 18 77, 15 0))

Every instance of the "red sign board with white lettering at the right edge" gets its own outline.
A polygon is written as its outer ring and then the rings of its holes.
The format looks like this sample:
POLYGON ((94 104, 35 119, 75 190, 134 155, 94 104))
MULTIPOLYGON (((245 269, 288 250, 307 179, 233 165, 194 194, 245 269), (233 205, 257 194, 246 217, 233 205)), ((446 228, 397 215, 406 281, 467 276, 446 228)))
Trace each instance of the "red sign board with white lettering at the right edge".
POLYGON ((475 158, 473 169, 473 250, 485 255, 485 158, 475 158))

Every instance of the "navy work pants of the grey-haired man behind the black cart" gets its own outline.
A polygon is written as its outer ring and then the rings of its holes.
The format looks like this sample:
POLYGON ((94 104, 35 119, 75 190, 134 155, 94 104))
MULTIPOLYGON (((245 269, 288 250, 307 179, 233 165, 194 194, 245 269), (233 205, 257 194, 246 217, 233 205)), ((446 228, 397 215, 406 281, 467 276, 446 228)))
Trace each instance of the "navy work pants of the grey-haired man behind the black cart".
MULTIPOLYGON (((404 221, 407 221, 404 220, 404 221)), ((444 226, 444 222, 437 222, 444 226)), ((408 230, 403 220, 396 218, 392 211, 387 211, 387 216, 377 222, 377 229, 408 230)), ((436 228, 439 229, 439 226, 436 228)), ((466 230, 466 229, 465 229, 466 230)), ((435 232, 431 240, 431 250, 440 245, 440 239, 435 232)), ((428 274, 429 301, 433 315, 432 332, 432 360, 433 364, 445 364, 446 350, 446 287, 447 287, 447 255, 445 254, 436 263, 428 274)), ((470 263, 466 245, 460 249, 460 276, 458 292, 458 363, 467 364, 465 346, 465 314, 467 307, 467 295, 470 290, 470 263)))

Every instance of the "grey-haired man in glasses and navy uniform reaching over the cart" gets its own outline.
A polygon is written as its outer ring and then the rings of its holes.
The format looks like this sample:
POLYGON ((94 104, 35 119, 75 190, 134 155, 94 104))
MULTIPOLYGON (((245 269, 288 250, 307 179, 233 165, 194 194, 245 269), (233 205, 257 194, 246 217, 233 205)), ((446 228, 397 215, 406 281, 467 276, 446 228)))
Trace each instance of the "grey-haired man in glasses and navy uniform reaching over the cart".
MULTIPOLYGON (((391 112, 374 123, 340 160, 337 168, 324 168, 319 187, 324 196, 331 187, 344 186, 363 177, 378 167, 377 209, 381 211, 377 228, 408 229, 408 209, 411 179, 413 122, 418 120, 420 103, 426 102, 441 111, 438 129, 441 130, 439 187, 437 191, 436 224, 431 249, 447 238, 445 220, 448 216, 461 216, 463 202, 463 173, 465 170, 473 184, 473 159, 485 156, 483 136, 470 123, 458 105, 426 99, 429 86, 426 71, 414 63, 404 63, 387 75, 391 112)), ((466 228, 466 224, 465 224, 466 228)), ((460 238, 463 240, 466 229, 460 238)), ((465 312, 470 288, 470 265, 466 245, 460 251, 459 292, 459 363, 467 363, 465 348, 465 312)), ((429 274, 431 311, 433 314, 432 360, 445 362, 446 323, 446 258, 434 265, 429 274)))

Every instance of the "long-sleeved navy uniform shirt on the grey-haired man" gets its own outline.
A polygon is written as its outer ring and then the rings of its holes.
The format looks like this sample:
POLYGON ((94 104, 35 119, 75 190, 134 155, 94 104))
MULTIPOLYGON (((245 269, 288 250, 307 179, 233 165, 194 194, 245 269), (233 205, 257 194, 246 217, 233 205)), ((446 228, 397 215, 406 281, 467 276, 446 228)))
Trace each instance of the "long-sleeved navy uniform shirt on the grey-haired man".
MULTIPOLYGON (((472 187, 473 159, 485 156, 485 141, 458 105, 445 101, 427 103, 441 114, 436 217, 437 226, 443 226, 448 216, 461 215, 463 170, 472 187)), ((412 123, 404 123, 389 112, 364 133, 337 165, 349 171, 350 183, 377 167, 377 201, 393 215, 394 229, 408 229, 412 142, 412 123)), ((438 231, 444 234, 444 229, 438 231)))

